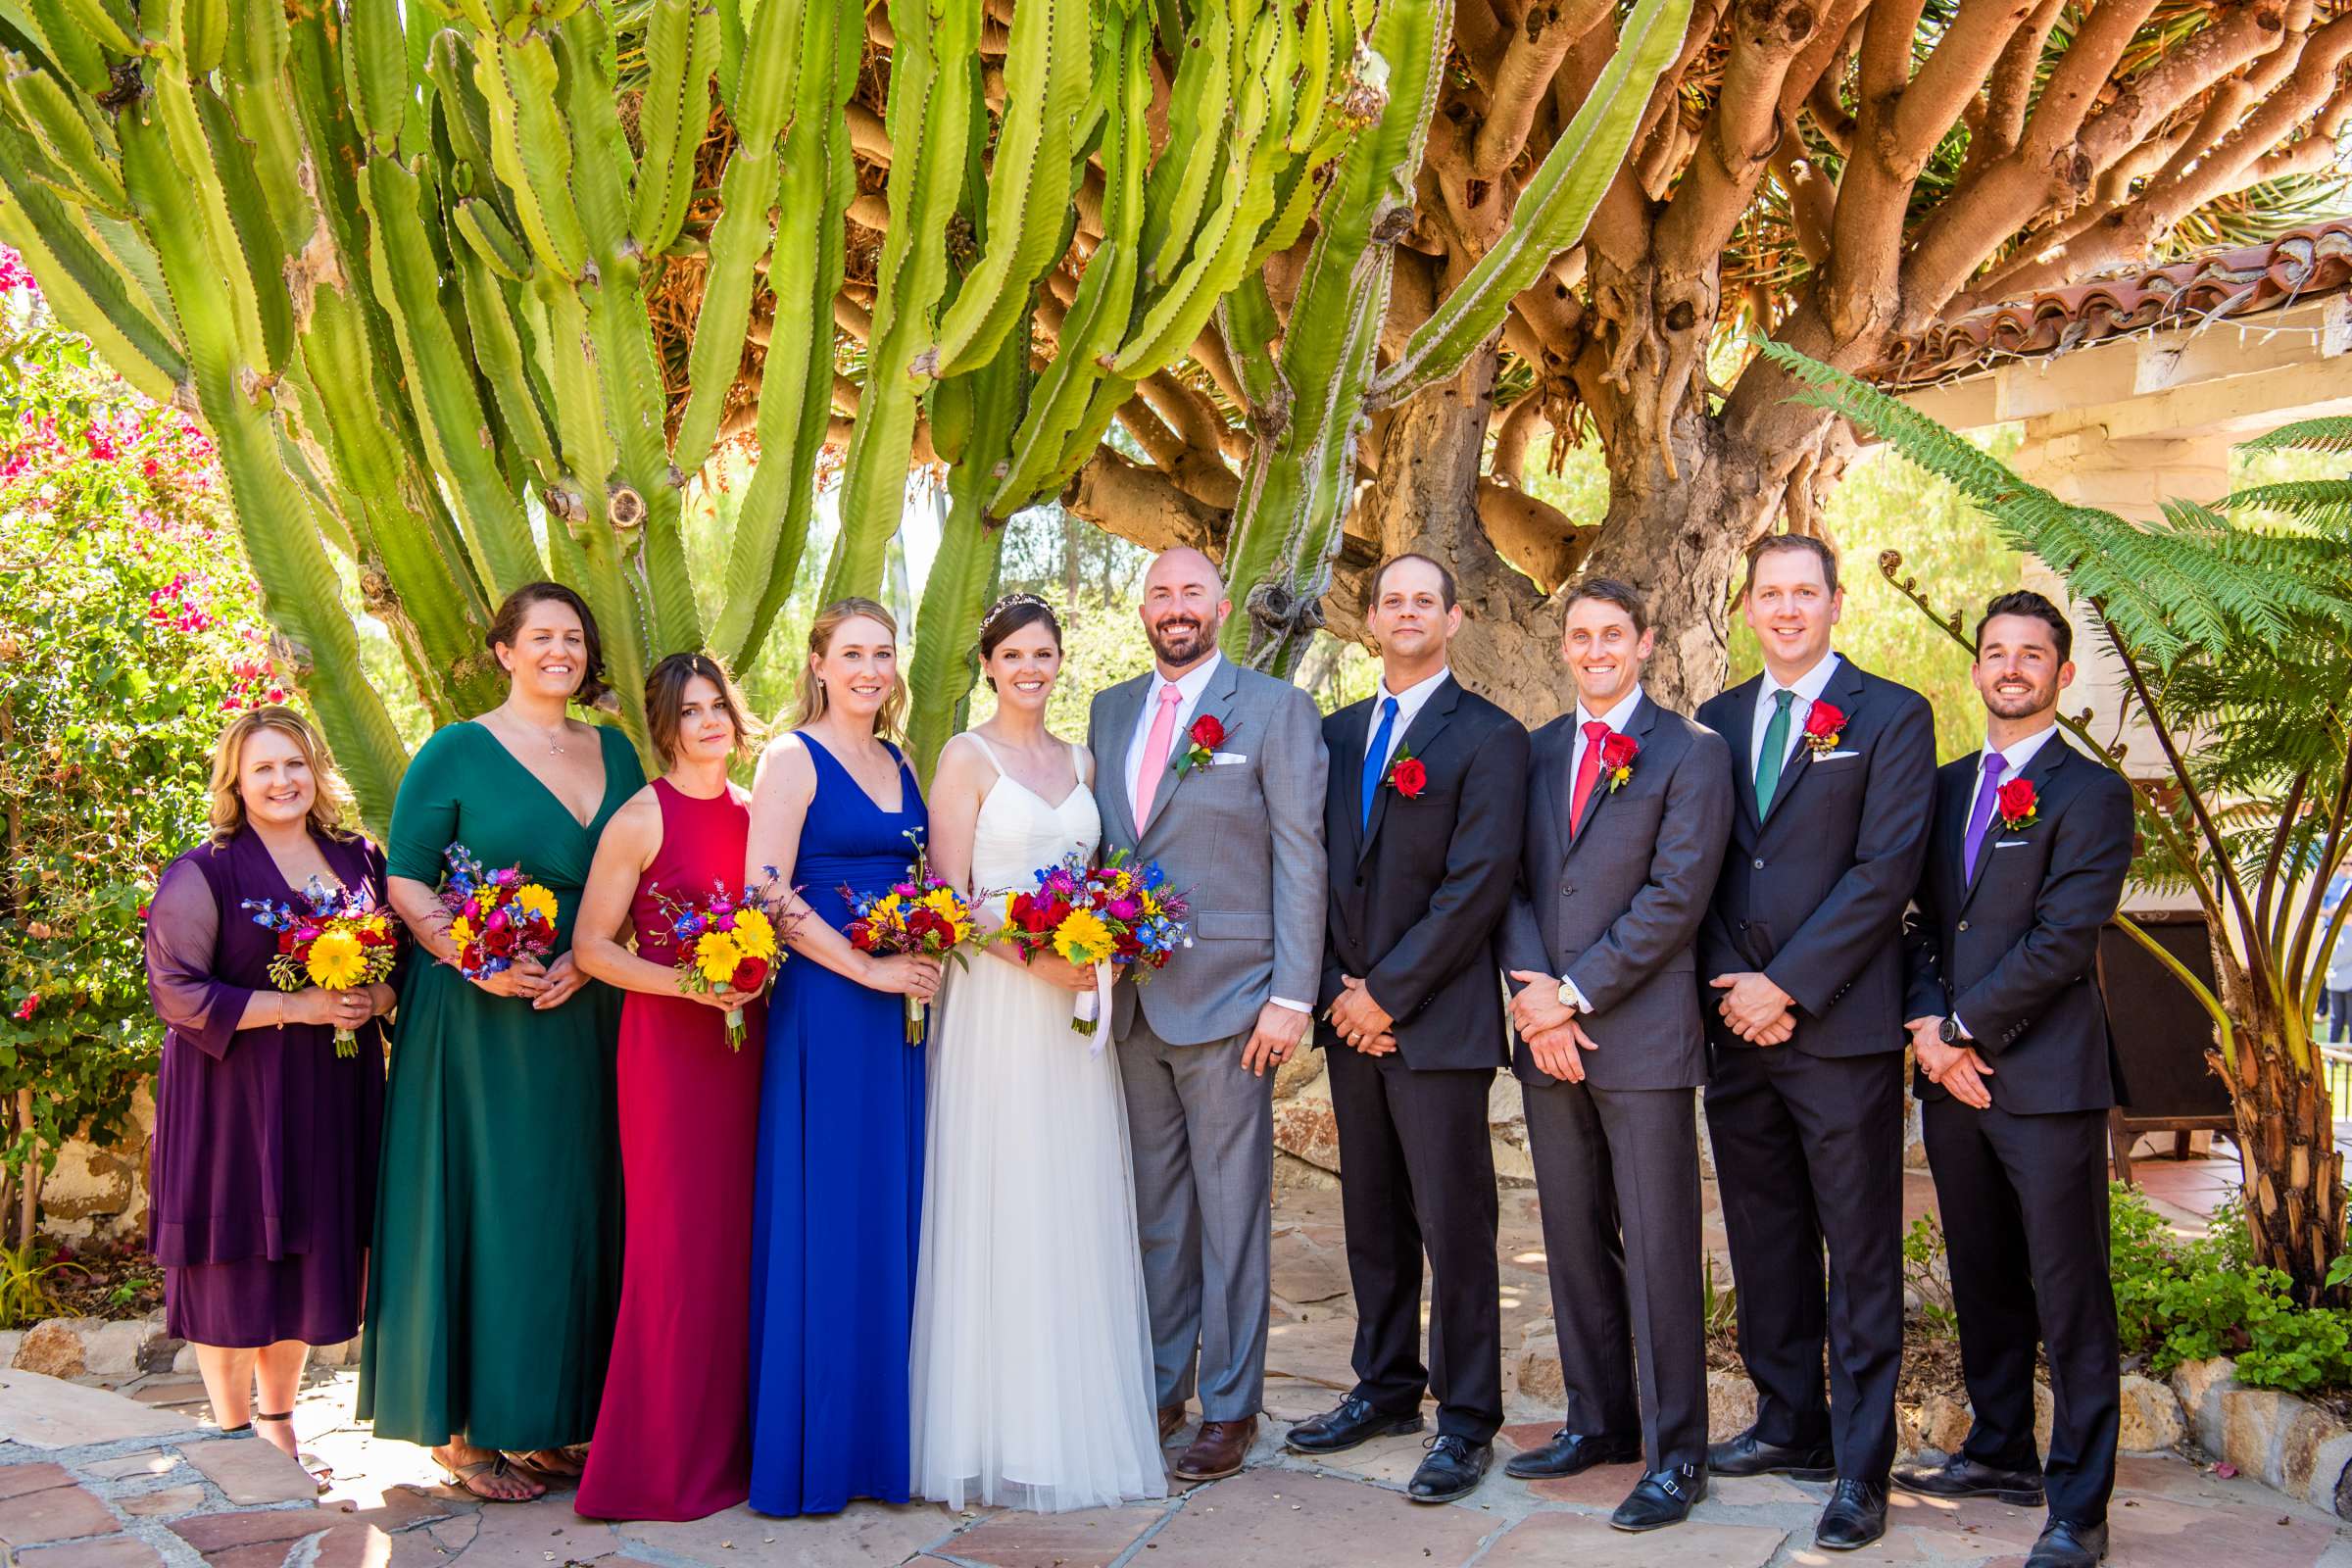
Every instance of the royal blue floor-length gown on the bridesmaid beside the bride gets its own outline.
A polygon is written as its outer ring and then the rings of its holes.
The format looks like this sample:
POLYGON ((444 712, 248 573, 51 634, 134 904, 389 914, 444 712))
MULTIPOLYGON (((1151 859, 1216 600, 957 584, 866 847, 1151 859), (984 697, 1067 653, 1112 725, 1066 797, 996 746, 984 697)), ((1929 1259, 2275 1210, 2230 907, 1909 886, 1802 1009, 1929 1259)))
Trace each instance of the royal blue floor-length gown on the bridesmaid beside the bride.
MULTIPOLYGON (((842 889, 898 882, 927 825, 898 762, 896 811, 802 731, 816 795, 793 884, 835 929, 842 889)), ((833 1514, 908 1500, 908 1333, 922 1232, 924 1046, 906 999, 814 959, 776 971, 753 1192, 750 1507, 833 1514)))

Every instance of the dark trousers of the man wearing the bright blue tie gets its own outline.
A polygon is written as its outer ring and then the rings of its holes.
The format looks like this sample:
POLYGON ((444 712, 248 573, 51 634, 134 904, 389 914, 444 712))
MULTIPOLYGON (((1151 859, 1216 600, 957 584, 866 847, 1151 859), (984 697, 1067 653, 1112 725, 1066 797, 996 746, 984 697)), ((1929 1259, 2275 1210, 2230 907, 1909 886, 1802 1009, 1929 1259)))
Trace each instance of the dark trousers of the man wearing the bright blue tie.
POLYGON ((1414 1072, 1404 1058, 1324 1051, 1338 1121, 1338 1197, 1355 1286, 1355 1396, 1486 1443, 1503 1425, 1496 1265, 1494 1072, 1414 1072), (1430 1363, 1421 1366, 1421 1253, 1430 1255, 1430 1363))

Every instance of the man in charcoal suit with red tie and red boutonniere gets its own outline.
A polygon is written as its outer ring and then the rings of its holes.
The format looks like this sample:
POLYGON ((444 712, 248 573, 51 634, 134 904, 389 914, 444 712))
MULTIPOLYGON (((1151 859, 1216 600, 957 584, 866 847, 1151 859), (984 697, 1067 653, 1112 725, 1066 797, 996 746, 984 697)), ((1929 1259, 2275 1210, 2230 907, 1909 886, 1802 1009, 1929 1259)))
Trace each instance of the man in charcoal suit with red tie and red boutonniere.
POLYGON ((1639 1455, 1609 1519, 1621 1530, 1682 1523, 1708 1495, 1691 943, 1731 832, 1731 755, 1642 693, 1653 644, 1632 588, 1592 578, 1569 595, 1559 658, 1576 710, 1536 731, 1503 929, 1569 1392, 1566 1422, 1510 1474, 1639 1455))

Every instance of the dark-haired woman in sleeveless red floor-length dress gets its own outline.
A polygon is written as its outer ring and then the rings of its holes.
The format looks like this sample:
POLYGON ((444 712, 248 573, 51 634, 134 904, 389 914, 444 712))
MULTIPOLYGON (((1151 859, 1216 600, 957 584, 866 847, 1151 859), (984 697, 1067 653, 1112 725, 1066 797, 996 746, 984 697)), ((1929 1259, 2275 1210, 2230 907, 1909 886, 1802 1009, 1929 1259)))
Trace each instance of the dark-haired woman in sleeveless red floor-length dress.
POLYGON ((628 992, 621 1009, 621 1321, 588 1472, 588 1519, 703 1519, 750 1490, 750 1182, 760 1131, 762 1006, 682 992, 663 900, 739 893, 750 795, 727 764, 750 722, 727 670, 670 654, 644 682, 666 773, 597 842, 572 933, 579 966, 628 992), (635 926, 635 952, 621 933, 635 926), (741 1048, 727 1013, 743 1009, 741 1048))

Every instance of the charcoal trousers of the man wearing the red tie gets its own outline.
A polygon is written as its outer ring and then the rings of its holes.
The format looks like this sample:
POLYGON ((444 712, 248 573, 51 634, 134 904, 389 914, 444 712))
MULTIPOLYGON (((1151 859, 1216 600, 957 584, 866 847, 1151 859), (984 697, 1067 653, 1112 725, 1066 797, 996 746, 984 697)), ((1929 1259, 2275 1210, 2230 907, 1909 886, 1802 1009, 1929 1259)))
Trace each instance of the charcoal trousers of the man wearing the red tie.
POLYGON ((1526 1084, 1566 1429, 1708 1460, 1698 1117, 1689 1088, 1526 1084))

